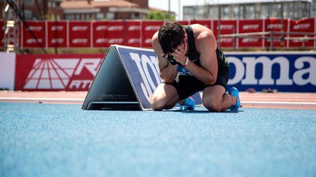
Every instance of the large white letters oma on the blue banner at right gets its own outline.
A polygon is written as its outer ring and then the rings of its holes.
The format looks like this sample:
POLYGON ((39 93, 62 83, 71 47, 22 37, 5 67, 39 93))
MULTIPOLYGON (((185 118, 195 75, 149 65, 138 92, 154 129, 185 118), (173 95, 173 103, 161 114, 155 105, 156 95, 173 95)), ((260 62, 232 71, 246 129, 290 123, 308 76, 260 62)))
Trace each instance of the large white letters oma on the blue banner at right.
POLYGON ((291 86, 293 82, 296 85, 303 86, 306 84, 312 84, 316 86, 316 58, 314 57, 300 57, 295 60, 294 67, 297 69, 293 73, 293 80, 290 79, 290 63, 285 57, 279 56, 274 59, 270 59, 265 56, 258 58, 255 57, 243 57, 242 61, 236 57, 227 57, 231 64, 235 65, 235 76, 229 80, 228 85, 234 85, 241 82, 242 85, 278 85, 278 86, 291 86), (262 64, 262 78, 257 79, 256 65, 262 64), (304 63, 309 64, 309 68, 304 68, 304 63), (245 65, 244 65, 245 64, 245 65), (272 67, 274 64, 279 66, 279 78, 272 78, 272 67), (309 74, 307 79, 304 79, 303 75, 309 74), (244 77, 244 79, 243 79, 244 77))

